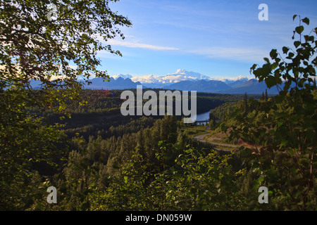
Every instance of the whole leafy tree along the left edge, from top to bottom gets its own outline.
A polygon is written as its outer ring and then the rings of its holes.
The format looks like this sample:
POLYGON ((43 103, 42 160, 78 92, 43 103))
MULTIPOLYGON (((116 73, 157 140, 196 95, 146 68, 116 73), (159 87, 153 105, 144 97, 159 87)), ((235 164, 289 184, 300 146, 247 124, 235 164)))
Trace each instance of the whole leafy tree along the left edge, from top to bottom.
POLYGON ((34 204, 44 193, 39 165, 56 165, 68 153, 60 126, 47 123, 39 110, 61 111, 68 99, 79 99, 79 76, 106 79, 106 71, 97 70, 98 51, 121 55, 107 40, 124 39, 119 27, 132 24, 111 11, 112 2, 0 1, 1 210, 34 204), (33 89, 31 81, 42 87, 33 89), (30 110, 35 107, 36 113, 30 110))

